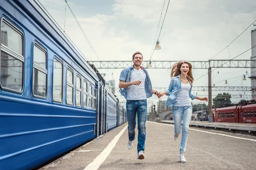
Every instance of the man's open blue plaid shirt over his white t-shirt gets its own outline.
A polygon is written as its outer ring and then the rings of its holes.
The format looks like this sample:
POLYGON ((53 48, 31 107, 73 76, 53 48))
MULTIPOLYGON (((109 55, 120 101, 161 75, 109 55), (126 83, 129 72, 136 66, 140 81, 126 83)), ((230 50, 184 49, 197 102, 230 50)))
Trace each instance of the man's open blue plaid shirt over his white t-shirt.
MULTIPOLYGON (((147 95, 147 98, 151 97, 152 96, 152 85, 151 85, 151 81, 149 79, 149 76, 148 76, 148 71, 140 66, 140 68, 145 71, 146 73, 146 79, 145 79, 145 92, 146 92, 146 95, 147 95)), ((134 71, 134 68, 133 68, 133 65, 129 68, 125 68, 124 70, 122 70, 121 74, 120 74, 120 78, 119 80, 122 80, 124 82, 130 82, 131 81, 131 73, 134 71)), ((130 86, 128 86, 127 88, 123 88, 123 89, 120 89, 119 92, 121 93, 122 96, 127 97, 127 91, 128 91, 128 88, 130 88, 130 86)))

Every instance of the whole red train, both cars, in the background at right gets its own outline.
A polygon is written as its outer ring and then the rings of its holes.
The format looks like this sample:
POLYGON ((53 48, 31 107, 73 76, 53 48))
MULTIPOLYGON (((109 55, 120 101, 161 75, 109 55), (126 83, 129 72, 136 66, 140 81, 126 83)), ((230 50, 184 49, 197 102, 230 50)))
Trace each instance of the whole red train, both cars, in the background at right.
POLYGON ((212 109, 213 122, 255 123, 256 104, 212 109))

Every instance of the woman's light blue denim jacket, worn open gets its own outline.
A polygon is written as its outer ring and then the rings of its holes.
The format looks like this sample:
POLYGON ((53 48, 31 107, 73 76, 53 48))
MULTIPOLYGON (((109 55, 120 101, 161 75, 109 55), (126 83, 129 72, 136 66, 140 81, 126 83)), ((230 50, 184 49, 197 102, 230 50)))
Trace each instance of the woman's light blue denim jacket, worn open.
MULTIPOLYGON (((195 99, 196 96, 195 96, 195 94, 191 94, 192 85, 190 84, 190 86, 191 86, 191 88, 189 90, 189 97, 193 100, 193 99, 195 99)), ((168 93, 166 105, 169 105, 172 107, 172 105, 174 103, 177 103, 175 101, 175 99, 177 97, 177 91, 179 91, 180 89, 181 89, 181 81, 180 81, 180 74, 179 74, 177 77, 173 77, 171 79, 169 88, 168 88, 168 90, 166 90, 166 92, 168 93)))

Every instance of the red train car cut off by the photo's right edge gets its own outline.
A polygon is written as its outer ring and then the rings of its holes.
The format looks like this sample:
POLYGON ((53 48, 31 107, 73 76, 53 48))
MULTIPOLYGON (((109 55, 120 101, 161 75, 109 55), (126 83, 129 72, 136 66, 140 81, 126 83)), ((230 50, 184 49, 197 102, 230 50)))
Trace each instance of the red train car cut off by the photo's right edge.
POLYGON ((256 123, 256 104, 240 106, 239 113, 240 123, 256 123))

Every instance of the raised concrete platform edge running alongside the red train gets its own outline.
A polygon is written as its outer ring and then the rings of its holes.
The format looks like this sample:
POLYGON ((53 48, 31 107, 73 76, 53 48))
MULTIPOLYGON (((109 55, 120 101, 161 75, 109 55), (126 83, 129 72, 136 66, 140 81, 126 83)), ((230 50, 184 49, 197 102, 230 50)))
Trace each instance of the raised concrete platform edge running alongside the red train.
MULTIPOLYGON (((174 124, 173 120, 163 120, 162 123, 174 124)), ((201 126, 201 127, 214 127, 228 130, 245 130, 249 133, 256 132, 256 124, 248 123, 227 123, 227 122, 202 122, 202 121, 190 121, 190 126, 201 126)))

